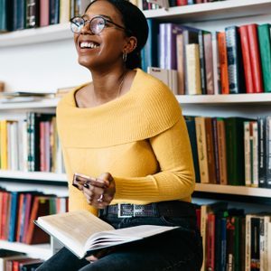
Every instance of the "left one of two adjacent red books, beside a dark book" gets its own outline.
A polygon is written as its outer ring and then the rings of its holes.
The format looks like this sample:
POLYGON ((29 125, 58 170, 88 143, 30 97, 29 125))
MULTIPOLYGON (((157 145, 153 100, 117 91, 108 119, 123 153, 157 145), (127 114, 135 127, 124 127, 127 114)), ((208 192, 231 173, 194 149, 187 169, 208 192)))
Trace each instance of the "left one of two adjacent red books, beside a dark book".
POLYGON ((241 42, 244 71, 245 71, 246 92, 254 93, 252 65, 251 65, 252 60, 250 59, 250 53, 249 53, 248 25, 241 25, 239 27, 239 32, 240 32, 240 42, 241 42))

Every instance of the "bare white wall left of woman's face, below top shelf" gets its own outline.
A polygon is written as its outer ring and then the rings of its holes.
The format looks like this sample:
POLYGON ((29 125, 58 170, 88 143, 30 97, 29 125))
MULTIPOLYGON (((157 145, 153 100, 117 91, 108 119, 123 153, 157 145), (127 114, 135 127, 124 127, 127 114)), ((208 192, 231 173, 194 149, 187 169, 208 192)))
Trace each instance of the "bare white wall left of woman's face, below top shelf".
POLYGON ((56 90, 90 79, 77 61, 72 38, 0 48, 0 80, 6 90, 56 90))

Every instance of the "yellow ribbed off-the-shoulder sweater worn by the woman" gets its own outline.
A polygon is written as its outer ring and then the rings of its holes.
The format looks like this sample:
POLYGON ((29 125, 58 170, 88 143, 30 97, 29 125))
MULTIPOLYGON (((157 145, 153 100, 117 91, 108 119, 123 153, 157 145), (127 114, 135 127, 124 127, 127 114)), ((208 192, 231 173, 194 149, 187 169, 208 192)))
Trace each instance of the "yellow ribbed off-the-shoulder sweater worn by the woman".
POLYGON ((111 173, 112 204, 191 201, 195 177, 192 150, 173 93, 137 69, 131 89, 99 107, 76 107, 74 89, 57 107, 57 125, 69 179, 70 210, 90 208, 71 185, 73 173, 111 173))

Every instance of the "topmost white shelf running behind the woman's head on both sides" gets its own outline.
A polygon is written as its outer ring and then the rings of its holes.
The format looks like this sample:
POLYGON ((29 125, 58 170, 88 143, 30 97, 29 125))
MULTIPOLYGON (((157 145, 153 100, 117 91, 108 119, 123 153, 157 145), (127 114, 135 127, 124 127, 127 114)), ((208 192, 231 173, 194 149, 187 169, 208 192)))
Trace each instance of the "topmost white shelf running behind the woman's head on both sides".
MULTIPOLYGON (((179 23, 183 23, 268 14, 270 9, 270 0, 228 0, 176 6, 169 8, 168 11, 164 8, 155 9, 144 11, 144 14, 147 18, 177 20, 179 23)), ((46 27, 1 33, 0 48, 42 42, 56 42, 71 38, 70 23, 53 24, 46 27)))

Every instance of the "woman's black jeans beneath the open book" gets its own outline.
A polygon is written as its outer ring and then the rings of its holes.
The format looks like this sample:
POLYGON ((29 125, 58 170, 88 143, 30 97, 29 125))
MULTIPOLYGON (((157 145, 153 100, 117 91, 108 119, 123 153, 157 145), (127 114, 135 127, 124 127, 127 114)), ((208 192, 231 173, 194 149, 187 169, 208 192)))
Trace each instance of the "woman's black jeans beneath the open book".
POLYGON ((169 218, 100 217, 116 229, 143 224, 181 226, 158 236, 118 246, 98 261, 89 263, 62 248, 48 259, 38 271, 198 271, 202 263, 201 235, 196 216, 169 218))

